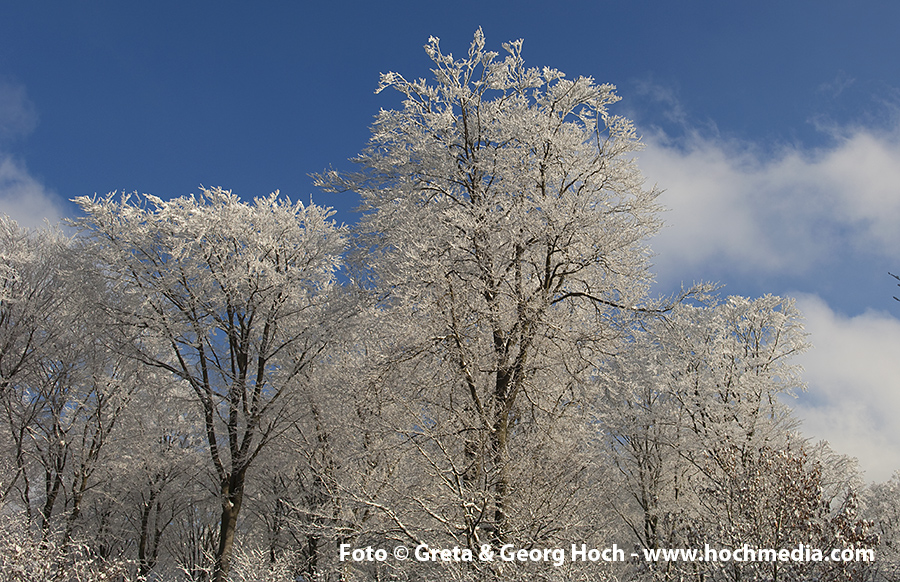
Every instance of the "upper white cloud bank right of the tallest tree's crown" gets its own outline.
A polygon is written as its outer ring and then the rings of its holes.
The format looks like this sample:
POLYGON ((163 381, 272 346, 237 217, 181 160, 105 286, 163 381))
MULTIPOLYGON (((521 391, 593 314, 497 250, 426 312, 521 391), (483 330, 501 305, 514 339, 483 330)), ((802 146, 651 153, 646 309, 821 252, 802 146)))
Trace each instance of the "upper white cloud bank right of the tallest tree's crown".
POLYGON ((640 166, 664 188, 667 226, 652 242, 660 274, 699 266, 741 274, 811 272, 845 251, 900 249, 900 131, 856 129, 817 150, 774 154, 694 134, 645 137, 640 166))

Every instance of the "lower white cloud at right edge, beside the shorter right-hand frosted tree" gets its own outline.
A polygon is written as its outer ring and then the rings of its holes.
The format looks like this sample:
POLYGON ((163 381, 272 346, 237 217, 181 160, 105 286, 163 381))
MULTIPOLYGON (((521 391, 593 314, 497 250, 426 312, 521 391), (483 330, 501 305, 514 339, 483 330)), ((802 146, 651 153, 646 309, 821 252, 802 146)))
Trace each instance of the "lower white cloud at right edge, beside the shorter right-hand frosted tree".
POLYGON ((809 391, 789 402, 801 432, 857 457, 870 481, 900 469, 900 320, 847 317, 815 295, 798 296, 813 348, 798 357, 809 391))

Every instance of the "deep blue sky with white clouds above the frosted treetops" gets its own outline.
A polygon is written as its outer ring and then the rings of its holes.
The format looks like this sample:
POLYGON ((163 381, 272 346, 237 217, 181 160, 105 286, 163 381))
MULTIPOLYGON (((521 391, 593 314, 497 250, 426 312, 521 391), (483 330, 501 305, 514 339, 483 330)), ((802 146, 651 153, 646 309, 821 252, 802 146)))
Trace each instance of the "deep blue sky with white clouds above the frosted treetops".
POLYGON ((33 2, 0 7, 0 211, 25 225, 112 190, 200 184, 334 206, 378 74, 428 76, 524 38, 526 63, 613 83, 666 189, 658 291, 798 299, 815 348, 803 430, 900 469, 900 4, 776 2, 33 2))

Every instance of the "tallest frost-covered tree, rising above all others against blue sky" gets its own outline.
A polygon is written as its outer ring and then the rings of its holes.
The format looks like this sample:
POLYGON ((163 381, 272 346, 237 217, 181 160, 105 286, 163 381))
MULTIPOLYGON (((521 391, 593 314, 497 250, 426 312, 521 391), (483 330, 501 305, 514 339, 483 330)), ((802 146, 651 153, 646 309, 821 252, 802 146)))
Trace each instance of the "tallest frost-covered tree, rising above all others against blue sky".
POLYGON ((318 177, 363 200, 357 274, 394 326, 380 349, 408 391, 398 428, 443 487, 417 505, 471 547, 560 531, 579 475, 555 471, 577 472, 590 442, 582 380, 653 308, 660 225, 614 87, 526 67, 521 40, 503 58, 484 46, 478 30, 455 59, 431 38, 432 81, 383 74, 402 107, 378 113, 359 171, 318 177))

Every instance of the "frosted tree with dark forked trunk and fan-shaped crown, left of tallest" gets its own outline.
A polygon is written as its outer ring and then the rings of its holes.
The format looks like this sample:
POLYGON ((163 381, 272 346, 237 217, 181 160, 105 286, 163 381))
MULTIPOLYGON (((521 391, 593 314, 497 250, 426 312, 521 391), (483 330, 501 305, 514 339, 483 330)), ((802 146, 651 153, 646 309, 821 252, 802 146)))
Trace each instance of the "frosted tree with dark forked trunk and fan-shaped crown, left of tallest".
POLYGON ((292 395, 328 337, 343 235, 330 211, 277 193, 163 201, 82 197, 77 221, 123 302, 132 357, 186 382, 203 419, 221 517, 214 577, 228 576, 247 475, 287 428, 292 395))

